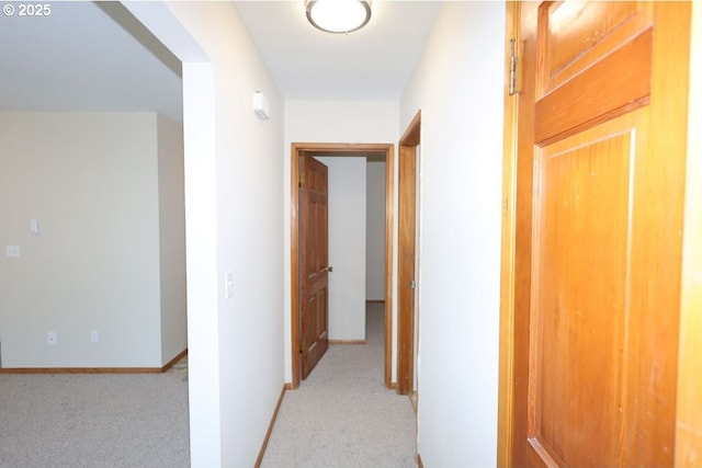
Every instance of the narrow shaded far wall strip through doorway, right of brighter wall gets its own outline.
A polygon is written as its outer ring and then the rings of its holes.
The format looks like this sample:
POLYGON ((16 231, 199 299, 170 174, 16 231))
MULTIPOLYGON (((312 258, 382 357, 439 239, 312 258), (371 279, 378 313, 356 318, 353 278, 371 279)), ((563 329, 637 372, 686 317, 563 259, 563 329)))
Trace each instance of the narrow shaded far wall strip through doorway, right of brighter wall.
POLYGON ((366 165, 365 299, 385 300, 385 162, 366 165))

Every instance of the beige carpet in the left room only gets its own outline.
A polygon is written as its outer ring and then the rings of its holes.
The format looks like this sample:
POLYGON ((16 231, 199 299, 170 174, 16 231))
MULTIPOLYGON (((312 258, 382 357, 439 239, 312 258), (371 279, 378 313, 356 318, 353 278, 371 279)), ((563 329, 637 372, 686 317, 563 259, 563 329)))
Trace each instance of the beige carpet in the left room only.
POLYGON ((188 369, 0 375, 0 467, 190 466, 188 369))

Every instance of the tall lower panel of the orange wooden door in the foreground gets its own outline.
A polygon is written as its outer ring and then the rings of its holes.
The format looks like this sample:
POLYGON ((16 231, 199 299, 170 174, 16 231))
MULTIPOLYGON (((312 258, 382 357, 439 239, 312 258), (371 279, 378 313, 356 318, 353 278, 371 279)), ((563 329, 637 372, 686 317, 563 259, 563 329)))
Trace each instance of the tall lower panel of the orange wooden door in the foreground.
POLYGON ((535 155, 529 442, 547 466, 619 466, 627 363, 635 362, 627 265, 643 115, 535 155))

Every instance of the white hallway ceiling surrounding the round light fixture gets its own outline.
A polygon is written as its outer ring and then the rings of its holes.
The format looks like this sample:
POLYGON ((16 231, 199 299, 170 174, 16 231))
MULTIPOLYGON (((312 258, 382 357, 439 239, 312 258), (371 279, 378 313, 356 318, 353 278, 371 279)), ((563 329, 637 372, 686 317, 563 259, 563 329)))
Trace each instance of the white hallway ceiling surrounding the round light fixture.
POLYGON ((376 0, 348 35, 313 27, 303 0, 235 4, 285 99, 396 101, 441 2, 376 0))

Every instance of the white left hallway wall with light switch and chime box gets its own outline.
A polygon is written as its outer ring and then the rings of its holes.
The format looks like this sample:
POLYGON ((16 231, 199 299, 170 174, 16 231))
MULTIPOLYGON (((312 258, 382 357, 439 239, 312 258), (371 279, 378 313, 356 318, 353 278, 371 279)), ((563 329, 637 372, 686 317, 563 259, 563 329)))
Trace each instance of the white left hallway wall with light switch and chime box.
POLYGON ((183 61, 191 465, 252 466, 283 387, 283 102, 231 2, 125 5, 183 61))

